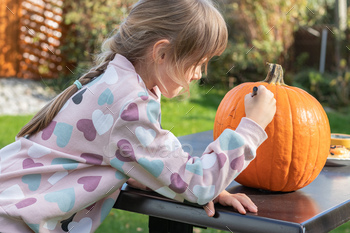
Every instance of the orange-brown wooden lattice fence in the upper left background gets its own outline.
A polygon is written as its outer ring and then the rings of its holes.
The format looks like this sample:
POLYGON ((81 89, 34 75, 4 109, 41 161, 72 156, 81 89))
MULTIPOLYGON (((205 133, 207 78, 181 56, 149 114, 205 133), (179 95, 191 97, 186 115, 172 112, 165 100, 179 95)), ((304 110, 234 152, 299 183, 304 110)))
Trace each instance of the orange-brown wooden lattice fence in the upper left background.
POLYGON ((62 0, 2 0, 0 77, 55 78, 63 69, 62 0))

